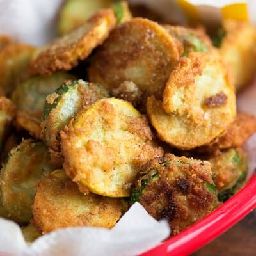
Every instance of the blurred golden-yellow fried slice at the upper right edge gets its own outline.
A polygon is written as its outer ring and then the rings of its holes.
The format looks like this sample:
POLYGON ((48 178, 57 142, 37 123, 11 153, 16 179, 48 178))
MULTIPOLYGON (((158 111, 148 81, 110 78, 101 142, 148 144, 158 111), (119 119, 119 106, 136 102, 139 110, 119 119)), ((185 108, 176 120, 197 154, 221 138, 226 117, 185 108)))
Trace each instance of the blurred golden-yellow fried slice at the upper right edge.
POLYGON ((222 60, 234 74, 236 90, 241 90, 250 83, 256 71, 255 27, 248 22, 225 20, 214 40, 220 47, 222 60))

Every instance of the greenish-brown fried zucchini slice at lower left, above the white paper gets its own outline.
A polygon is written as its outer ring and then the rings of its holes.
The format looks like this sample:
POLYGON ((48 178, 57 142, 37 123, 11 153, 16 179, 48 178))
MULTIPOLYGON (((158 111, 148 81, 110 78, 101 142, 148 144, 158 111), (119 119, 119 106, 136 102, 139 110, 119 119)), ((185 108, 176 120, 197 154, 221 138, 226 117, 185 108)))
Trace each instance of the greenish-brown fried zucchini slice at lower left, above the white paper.
POLYGON ((12 220, 26 223, 32 218, 35 185, 52 170, 49 152, 40 141, 24 140, 11 150, 1 170, 1 189, 12 220))

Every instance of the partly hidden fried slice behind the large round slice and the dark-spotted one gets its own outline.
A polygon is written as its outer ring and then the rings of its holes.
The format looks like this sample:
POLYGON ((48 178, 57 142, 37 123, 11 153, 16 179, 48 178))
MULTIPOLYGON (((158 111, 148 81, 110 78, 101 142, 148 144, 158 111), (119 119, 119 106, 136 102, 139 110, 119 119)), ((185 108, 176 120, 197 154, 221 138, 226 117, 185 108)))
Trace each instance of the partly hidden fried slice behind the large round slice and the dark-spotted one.
POLYGON ((163 25, 163 28, 177 39, 178 48, 181 48, 181 56, 188 56, 189 52, 214 51, 211 39, 202 29, 189 29, 182 26, 163 25))

